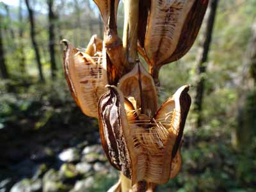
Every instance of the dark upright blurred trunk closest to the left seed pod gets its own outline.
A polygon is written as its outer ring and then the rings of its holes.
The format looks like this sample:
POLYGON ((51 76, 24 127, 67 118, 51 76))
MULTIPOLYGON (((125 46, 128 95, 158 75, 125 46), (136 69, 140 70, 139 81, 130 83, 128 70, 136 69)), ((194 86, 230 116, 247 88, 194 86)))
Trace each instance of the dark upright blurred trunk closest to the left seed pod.
POLYGON ((54 33, 54 22, 55 22, 55 16, 52 10, 54 0, 47 0, 48 8, 49 8, 49 52, 50 52, 50 58, 51 58, 51 76, 52 79, 56 77, 56 60, 55 60, 55 33, 54 33))

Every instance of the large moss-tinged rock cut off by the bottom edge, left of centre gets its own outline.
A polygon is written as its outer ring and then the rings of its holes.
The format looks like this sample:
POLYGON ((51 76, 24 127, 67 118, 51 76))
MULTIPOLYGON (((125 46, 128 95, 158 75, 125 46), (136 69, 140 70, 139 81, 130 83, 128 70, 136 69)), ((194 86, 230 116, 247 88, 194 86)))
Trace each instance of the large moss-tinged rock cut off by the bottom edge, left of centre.
POLYGON ((67 192, 72 186, 61 182, 58 172, 51 169, 43 177, 43 192, 67 192))

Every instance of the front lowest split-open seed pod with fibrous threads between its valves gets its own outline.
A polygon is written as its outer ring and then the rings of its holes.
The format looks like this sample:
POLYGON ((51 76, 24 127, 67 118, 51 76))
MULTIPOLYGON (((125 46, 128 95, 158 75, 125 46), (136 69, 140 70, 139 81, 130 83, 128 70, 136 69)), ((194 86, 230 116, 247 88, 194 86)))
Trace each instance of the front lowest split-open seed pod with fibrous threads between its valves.
POLYGON ((134 104, 115 86, 99 100, 100 138, 109 161, 132 180, 164 184, 179 173, 180 142, 191 99, 182 86, 157 110, 141 120, 134 104))

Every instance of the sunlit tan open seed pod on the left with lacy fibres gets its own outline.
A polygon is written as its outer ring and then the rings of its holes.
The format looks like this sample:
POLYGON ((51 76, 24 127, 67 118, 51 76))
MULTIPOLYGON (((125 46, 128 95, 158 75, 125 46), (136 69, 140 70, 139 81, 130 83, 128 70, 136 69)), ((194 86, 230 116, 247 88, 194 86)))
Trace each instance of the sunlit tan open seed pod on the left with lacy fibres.
POLYGON ((63 68, 70 92, 85 115, 98 118, 99 98, 108 91, 102 40, 93 35, 86 49, 77 49, 67 40, 63 44, 67 45, 63 68))

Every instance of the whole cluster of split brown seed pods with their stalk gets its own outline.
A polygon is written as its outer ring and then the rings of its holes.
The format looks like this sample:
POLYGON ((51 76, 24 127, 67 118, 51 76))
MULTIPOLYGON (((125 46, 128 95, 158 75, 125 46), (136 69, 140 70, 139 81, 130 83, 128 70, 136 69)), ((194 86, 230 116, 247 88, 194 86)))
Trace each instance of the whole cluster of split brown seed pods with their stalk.
POLYGON ((104 39, 93 35, 86 49, 63 40, 65 77, 83 113, 99 118, 102 147, 120 171, 109 191, 154 191, 180 172, 180 143, 191 105, 184 85, 158 106, 159 70, 189 51, 208 0, 124 0, 123 40, 116 28, 119 1, 94 2, 104 39))

